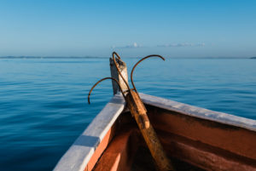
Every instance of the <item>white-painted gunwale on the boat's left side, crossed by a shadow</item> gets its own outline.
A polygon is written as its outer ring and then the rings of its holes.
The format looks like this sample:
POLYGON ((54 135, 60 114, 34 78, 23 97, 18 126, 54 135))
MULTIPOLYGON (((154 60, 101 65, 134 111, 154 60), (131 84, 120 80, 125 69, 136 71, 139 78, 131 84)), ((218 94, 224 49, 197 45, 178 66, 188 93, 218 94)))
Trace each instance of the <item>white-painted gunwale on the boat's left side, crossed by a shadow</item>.
POLYGON ((97 145, 108 133, 109 128, 112 127, 124 107, 125 100, 123 96, 120 94, 113 96, 113 99, 108 102, 88 128, 84 130, 84 133, 61 157, 54 171, 84 171, 97 145))

